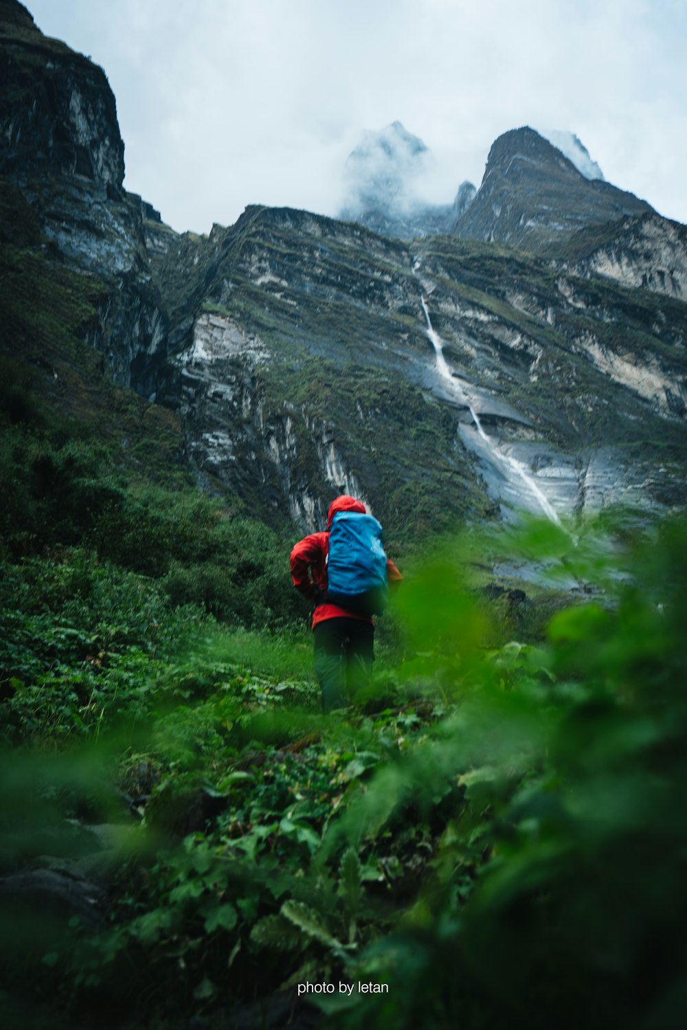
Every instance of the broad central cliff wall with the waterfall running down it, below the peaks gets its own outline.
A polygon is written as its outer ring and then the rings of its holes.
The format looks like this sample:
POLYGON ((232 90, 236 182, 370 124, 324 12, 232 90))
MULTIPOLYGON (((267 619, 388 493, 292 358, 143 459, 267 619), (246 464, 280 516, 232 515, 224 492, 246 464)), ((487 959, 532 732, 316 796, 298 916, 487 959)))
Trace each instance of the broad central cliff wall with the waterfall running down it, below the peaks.
POLYGON ((157 269, 165 403, 186 414, 202 481, 256 510, 312 529, 346 490, 405 534, 490 508, 685 500, 677 301, 287 209, 180 237, 157 269))

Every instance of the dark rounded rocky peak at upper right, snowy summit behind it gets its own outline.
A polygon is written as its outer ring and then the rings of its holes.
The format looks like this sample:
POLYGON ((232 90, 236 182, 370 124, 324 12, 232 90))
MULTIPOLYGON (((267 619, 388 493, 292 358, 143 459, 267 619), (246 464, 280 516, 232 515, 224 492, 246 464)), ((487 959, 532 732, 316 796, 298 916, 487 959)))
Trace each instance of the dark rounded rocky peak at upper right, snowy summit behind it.
POLYGON ((565 273, 684 298, 685 227, 606 182, 577 137, 549 136, 525 128, 499 137, 455 235, 557 260, 565 273))

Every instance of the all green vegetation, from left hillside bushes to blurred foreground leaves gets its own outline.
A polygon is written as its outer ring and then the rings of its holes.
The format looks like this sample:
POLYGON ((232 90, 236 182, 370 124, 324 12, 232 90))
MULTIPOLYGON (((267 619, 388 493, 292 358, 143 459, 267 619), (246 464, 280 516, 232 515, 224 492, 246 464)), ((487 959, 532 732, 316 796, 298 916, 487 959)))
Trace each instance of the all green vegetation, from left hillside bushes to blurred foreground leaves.
MULTIPOLYGON (((674 1026, 685 528, 406 554, 371 689, 323 718, 290 541, 197 491, 174 416, 78 342, 100 284, 27 225, 2 260, 41 289, 0 298, 3 1025, 674 1026)), ((383 370, 348 373, 282 385, 392 435, 383 370)), ((401 402, 450 481, 451 425, 401 402)), ((443 524, 387 485, 400 543, 443 524)))

